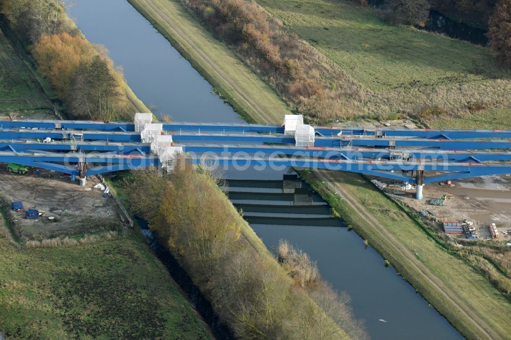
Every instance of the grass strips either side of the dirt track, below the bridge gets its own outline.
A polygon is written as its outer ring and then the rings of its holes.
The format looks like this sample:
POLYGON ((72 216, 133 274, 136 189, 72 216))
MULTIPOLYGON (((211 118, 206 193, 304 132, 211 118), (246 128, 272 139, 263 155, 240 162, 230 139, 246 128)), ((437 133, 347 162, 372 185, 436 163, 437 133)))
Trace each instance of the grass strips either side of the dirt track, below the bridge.
MULTIPOLYGON (((351 225, 357 233, 369 241, 386 259, 390 260, 396 270, 409 281, 440 313, 468 338, 481 338, 481 333, 474 327, 474 320, 467 320, 459 309, 455 308, 445 296, 431 286, 415 268, 408 263, 394 245, 383 239, 345 200, 339 199, 328 190, 321 180, 312 172, 303 171, 301 177, 320 193, 333 209, 351 225)), ((444 246, 434 236, 432 230, 420 225, 411 218, 402 207, 394 203, 373 184, 357 174, 330 172, 332 180, 342 186, 343 190, 355 198, 373 214, 394 237, 396 237, 411 254, 423 262, 435 276, 449 286, 456 295, 477 312, 502 338, 509 338, 511 332, 503 320, 510 320, 511 308, 509 301, 501 295, 491 282, 481 276, 467 261, 456 254, 456 251, 444 246), (366 196, 367 195, 367 196, 366 196), (366 204, 366 197, 368 198, 366 204), (493 315, 499 315, 494 318, 493 315)), ((376 227, 378 228, 378 227, 376 227)))

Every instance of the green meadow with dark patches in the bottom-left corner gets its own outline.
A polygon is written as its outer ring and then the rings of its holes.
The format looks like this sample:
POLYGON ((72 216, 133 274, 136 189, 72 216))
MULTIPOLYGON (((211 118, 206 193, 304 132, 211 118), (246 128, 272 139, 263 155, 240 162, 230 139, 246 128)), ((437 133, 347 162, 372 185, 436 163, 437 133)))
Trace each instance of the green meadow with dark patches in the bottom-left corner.
POLYGON ((134 233, 34 249, 0 236, 0 330, 12 339, 213 338, 134 233))

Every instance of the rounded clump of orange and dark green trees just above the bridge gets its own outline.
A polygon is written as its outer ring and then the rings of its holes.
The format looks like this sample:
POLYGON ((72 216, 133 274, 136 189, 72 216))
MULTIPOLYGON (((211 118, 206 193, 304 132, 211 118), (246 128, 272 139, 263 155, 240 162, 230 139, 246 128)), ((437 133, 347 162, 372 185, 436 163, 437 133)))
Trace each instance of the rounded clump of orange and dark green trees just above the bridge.
POLYGON ((65 32, 43 34, 32 54, 37 71, 64 99, 73 118, 111 120, 126 113, 122 76, 87 40, 65 32))

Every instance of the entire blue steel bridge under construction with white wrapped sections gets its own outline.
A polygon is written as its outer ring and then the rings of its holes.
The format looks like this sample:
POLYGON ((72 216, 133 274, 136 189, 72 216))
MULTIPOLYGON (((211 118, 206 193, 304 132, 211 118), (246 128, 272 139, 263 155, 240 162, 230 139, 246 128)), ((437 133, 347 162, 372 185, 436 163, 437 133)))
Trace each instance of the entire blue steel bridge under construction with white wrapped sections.
POLYGON ((314 127, 289 115, 282 126, 0 120, 0 162, 79 177, 190 162, 327 168, 425 183, 511 173, 511 131, 314 127))

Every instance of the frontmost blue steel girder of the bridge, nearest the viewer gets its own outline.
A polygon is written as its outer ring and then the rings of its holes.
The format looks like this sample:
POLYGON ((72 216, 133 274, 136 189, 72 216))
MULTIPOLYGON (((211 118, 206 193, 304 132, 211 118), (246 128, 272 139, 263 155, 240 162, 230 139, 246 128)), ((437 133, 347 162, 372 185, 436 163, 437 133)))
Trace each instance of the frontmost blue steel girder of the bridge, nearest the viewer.
MULTIPOLYGON (((219 164, 255 164, 259 166, 296 166, 296 167, 317 167, 337 171, 356 172, 361 174, 398 179, 409 183, 417 183, 415 178, 401 172, 410 171, 435 171, 450 172, 437 176, 425 177, 423 183, 430 183, 445 179, 464 178, 472 176, 486 176, 511 173, 509 165, 488 165, 479 163, 445 163, 445 162, 402 162, 402 161, 344 161, 344 160, 320 160, 302 158, 215 158, 219 164)), ((121 169, 133 169, 150 165, 158 166, 159 160, 156 157, 130 157, 112 154, 77 154, 77 153, 43 153, 43 154, 16 154, 11 152, 0 153, 0 162, 17 163, 28 166, 47 168, 54 171, 71 173, 76 175, 79 171, 75 164, 91 163, 104 164, 92 165, 87 169, 85 176, 100 174, 121 169)), ((192 158, 192 162, 200 162, 200 158, 192 158)), ((83 174, 81 174, 83 175, 83 174)))

